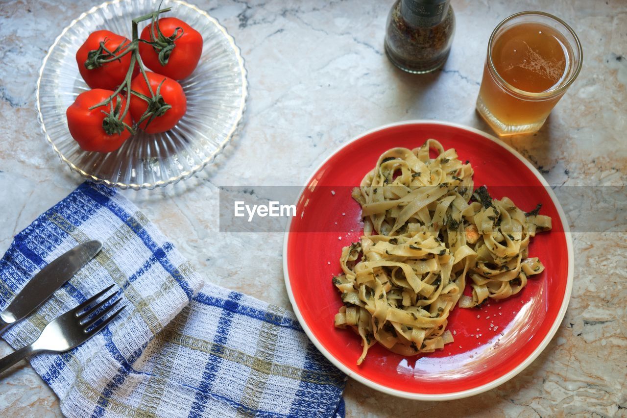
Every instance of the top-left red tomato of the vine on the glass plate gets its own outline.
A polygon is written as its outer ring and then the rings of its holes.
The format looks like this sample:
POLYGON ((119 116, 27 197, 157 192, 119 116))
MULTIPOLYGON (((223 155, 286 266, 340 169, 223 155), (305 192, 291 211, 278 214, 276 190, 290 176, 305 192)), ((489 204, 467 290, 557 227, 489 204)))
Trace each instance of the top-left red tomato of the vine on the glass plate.
MULTIPOLYGON (((131 53, 127 53, 119 60, 113 60, 107 63, 94 63, 94 58, 98 55, 97 61, 107 60, 113 58, 107 51, 100 49, 100 43, 105 43, 105 48, 110 52, 115 52, 117 48, 128 45, 130 41, 124 36, 117 35, 111 31, 95 31, 92 32, 85 43, 76 51, 76 63, 78 64, 78 71, 82 75, 83 80, 91 88, 107 88, 114 90, 126 77, 130 67, 131 53), (90 56, 92 55, 92 56, 90 56), (85 67, 85 63, 95 65, 95 68, 88 69, 85 67)), ((115 52, 115 56, 120 55, 122 51, 115 52)), ((137 75, 139 67, 135 65, 133 70, 133 76, 137 75)))

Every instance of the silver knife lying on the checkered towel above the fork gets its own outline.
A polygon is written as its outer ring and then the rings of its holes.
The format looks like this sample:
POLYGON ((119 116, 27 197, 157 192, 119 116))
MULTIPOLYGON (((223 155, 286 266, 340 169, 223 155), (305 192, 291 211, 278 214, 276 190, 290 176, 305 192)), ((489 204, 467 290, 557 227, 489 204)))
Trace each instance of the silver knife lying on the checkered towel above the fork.
POLYGON ((37 309, 59 287, 70 280, 83 265, 102 249, 100 241, 88 241, 77 245, 50 262, 26 283, 13 302, 0 313, 0 333, 37 309))

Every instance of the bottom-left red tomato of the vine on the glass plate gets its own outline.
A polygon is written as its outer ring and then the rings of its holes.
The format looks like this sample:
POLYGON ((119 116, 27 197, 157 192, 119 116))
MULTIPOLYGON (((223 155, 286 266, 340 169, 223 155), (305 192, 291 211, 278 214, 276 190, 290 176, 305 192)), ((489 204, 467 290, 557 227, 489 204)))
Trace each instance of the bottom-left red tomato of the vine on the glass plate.
POLYGON ((112 90, 103 88, 88 90, 79 94, 66 111, 70 134, 85 151, 110 153, 122 146, 130 137, 130 132, 126 129, 126 126, 131 126, 133 123, 130 119, 130 112, 122 121, 119 119, 126 105, 124 97, 118 95, 112 100, 113 112, 111 112, 110 105, 89 109, 112 94, 112 90))

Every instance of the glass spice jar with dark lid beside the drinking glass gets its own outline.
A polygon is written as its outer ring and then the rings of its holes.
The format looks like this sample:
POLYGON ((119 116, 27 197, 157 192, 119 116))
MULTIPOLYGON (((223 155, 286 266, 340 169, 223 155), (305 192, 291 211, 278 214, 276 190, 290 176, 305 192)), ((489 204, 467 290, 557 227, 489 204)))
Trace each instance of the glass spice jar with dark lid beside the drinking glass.
POLYGON ((435 71, 448 57, 454 32, 450 0, 396 0, 387 18, 387 57, 409 73, 435 71))

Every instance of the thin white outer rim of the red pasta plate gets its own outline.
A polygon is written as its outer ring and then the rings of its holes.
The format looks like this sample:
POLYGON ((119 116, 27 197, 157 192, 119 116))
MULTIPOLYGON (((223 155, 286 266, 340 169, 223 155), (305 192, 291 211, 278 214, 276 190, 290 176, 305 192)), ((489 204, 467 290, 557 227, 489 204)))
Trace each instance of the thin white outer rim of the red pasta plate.
POLYGON ((383 129, 388 129, 388 128, 395 127, 395 126, 403 126, 403 125, 410 125, 410 124, 436 124, 436 125, 442 125, 442 126, 450 126, 450 127, 456 127, 459 129, 464 129, 466 131, 470 131, 475 134, 479 134, 480 136, 483 136, 486 139, 489 139, 490 141, 495 142, 499 146, 505 148, 512 155, 514 155, 516 158, 522 161, 522 163, 524 163, 525 166, 527 166, 527 168, 529 168, 529 170, 532 173, 534 173, 535 177, 540 181, 540 183, 542 183, 542 185, 546 187, 546 190, 549 193, 549 196, 551 197, 551 200, 556 207, 557 213, 562 222, 562 227, 564 228, 564 235, 566 237, 566 249, 568 253, 568 272, 567 272, 567 277, 566 277, 566 289, 564 290, 564 299, 562 300, 562 306, 560 307, 559 312, 557 313, 557 317, 555 321, 551 325, 551 329, 549 329, 549 332, 544 337, 544 340, 540 342, 540 344, 535 348, 535 350, 529 356, 527 356, 527 358, 525 358, 525 360, 520 362, 519 365, 517 365, 514 369, 510 370, 510 372, 505 373, 505 375, 502 375, 501 377, 493 379, 491 382, 485 383, 477 387, 473 387, 472 389, 461 390, 458 392, 450 392, 446 394, 424 394, 424 393, 417 393, 417 392, 406 392, 404 390, 398 390, 398 389, 391 389, 379 383, 373 382, 372 380, 366 377, 363 377, 362 375, 354 373, 352 370, 350 370, 350 368, 346 367, 342 362, 337 360, 337 358, 332 356, 331 353, 329 353, 329 351, 327 351, 326 348, 324 348, 324 346, 322 346, 320 341, 318 341, 317 338, 315 338, 314 333, 312 333, 307 323, 305 323, 305 320, 303 319, 303 316, 300 313, 300 309, 298 309, 298 306, 294 299, 292 286, 290 285, 290 275, 289 275, 288 268, 287 268, 287 244, 288 244, 288 240, 290 237, 289 231, 290 231, 290 226, 292 225, 292 218, 288 219, 287 225, 285 226, 285 234, 283 236, 283 278, 285 279, 285 288, 287 289, 287 294, 288 294, 288 297, 290 298, 290 303, 292 303, 292 308, 294 310, 294 313, 296 314, 296 318, 298 319, 300 326, 303 328, 303 331, 305 331, 305 334, 308 336, 309 340, 312 341, 312 343, 320 351, 320 353, 322 353, 322 355, 324 355, 327 358, 327 360, 333 363, 335 367, 339 368, 339 370, 344 372, 346 375, 354 378, 359 383, 362 383, 368 387, 371 387, 372 389, 376 389, 379 392, 383 392, 384 394, 393 395, 396 397, 402 397, 402 398, 413 399, 413 400, 461 399, 461 398, 481 394, 483 392, 486 392, 487 390, 494 389, 495 387, 507 382, 508 380, 513 378, 515 375, 522 372, 522 370, 527 368, 532 362, 534 362, 537 356, 539 356, 540 353, 542 353, 542 351, 544 351, 544 349, 547 347, 547 345, 549 345, 552 338, 556 334, 559 326, 561 325, 562 320, 564 319, 564 315, 566 314, 566 309, 568 308, 568 304, 571 299, 572 281, 573 281, 573 276, 574 276, 574 255, 573 255, 573 250, 572 250, 572 234, 571 234, 569 225, 566 221, 566 214, 564 213, 564 210, 562 209, 562 205, 559 203, 559 200, 557 200, 557 196, 551 189, 551 186, 549 186, 549 183, 547 183, 544 177, 542 177, 542 174, 540 174, 540 172, 534 166, 532 166, 532 164, 529 163, 529 161, 527 161, 527 159, 525 159, 513 147, 509 146, 508 144, 505 144, 505 142, 503 141, 500 141, 500 139, 497 139, 495 136, 492 136, 490 134, 487 134, 486 132, 480 131, 479 129, 476 129, 470 126, 456 124, 453 122, 430 121, 428 119, 416 119, 416 120, 411 120, 411 121, 395 122, 395 123, 379 126, 367 132, 359 134, 358 136, 350 139, 350 141, 345 142, 341 146, 337 147, 335 151, 330 153, 329 156, 325 158, 324 161, 322 161, 322 163, 320 163, 317 166, 317 168, 314 169, 312 176, 310 176, 310 178, 305 183, 305 186, 303 186, 300 193, 298 193, 296 204, 298 204, 298 200, 300 200, 300 197, 302 196, 303 191, 305 191, 305 189, 307 188, 307 185, 309 185, 311 181, 314 180, 314 176, 316 173, 318 173, 320 168, 322 168, 322 166, 324 166, 324 164, 326 164, 327 161, 329 161, 329 159, 332 158, 335 154, 339 153, 342 149, 344 149, 344 147, 347 147, 350 144, 352 144, 352 142, 358 141, 362 137, 372 134, 374 132, 382 131, 383 129))

